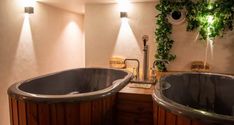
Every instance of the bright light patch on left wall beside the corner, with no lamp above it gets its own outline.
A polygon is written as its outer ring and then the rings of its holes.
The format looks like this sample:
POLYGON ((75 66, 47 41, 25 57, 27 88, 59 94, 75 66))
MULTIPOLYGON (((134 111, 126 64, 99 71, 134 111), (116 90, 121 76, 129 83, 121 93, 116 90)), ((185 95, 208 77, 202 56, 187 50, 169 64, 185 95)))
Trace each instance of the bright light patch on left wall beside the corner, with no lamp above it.
POLYGON ((82 53, 84 53, 85 44, 81 40, 82 30, 79 24, 72 19, 67 23, 64 27, 62 34, 58 38, 58 41, 55 46, 56 50, 60 50, 64 56, 63 59, 66 62, 69 62, 69 65, 73 66, 83 66, 85 57, 82 53))

